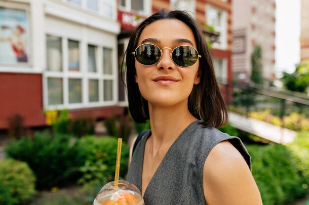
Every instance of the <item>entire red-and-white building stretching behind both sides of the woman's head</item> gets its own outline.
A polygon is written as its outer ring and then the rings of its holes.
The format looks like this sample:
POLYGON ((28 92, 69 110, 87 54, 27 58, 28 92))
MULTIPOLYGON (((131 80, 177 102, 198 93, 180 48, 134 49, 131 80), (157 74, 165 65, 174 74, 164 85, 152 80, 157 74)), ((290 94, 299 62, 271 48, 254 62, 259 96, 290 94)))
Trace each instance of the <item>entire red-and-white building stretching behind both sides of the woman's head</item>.
POLYGON ((122 115, 122 59, 138 23, 159 9, 184 9, 218 33, 212 55, 227 101, 232 96, 231 0, 1 0, 0 129, 18 115, 46 125, 46 112, 73 118, 122 115))

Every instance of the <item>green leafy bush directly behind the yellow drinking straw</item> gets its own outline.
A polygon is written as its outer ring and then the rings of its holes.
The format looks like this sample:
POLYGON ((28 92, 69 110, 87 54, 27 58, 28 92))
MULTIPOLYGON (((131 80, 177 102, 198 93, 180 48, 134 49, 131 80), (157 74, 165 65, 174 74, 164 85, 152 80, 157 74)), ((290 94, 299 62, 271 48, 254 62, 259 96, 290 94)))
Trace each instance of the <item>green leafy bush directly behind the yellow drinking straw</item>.
MULTIPOLYGON (((85 166, 82 168, 83 173, 89 176, 84 176, 84 181, 86 182, 88 178, 89 181, 102 180, 105 178, 106 181, 112 181, 115 176, 116 170, 116 155, 117 155, 117 139, 114 137, 93 137, 86 136, 78 141, 78 158, 81 158, 83 162, 86 162, 85 166), (100 168, 95 168, 95 166, 102 165, 100 168), (107 166, 105 170, 104 166, 107 166), (100 173, 94 173, 95 170, 99 170, 100 173), (102 175, 102 176, 101 176, 102 175)), ((120 161, 120 177, 126 175, 128 171, 128 157, 129 157, 129 147, 122 143, 121 148, 121 161, 120 161)))

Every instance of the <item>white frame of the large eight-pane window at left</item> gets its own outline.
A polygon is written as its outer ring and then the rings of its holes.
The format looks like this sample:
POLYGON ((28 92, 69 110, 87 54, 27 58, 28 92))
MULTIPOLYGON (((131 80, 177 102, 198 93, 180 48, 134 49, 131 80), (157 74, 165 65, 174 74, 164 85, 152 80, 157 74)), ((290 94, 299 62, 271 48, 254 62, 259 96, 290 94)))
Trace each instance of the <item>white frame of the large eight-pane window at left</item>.
MULTIPOLYGON (((81 109, 81 108, 92 108, 92 107, 106 107, 116 105, 118 101, 118 85, 117 85, 117 63, 116 60, 116 48, 98 44, 96 42, 85 41, 83 39, 71 38, 56 33, 45 33, 47 35, 60 37, 62 40, 62 71, 43 71, 43 105, 45 110, 62 110, 62 109, 81 109), (68 66, 68 55, 69 47, 68 40, 75 40, 79 42, 79 71, 69 71, 68 66), (97 61, 97 72, 88 72, 88 45, 96 46, 96 61, 97 61), (112 74, 103 74, 103 48, 112 49, 112 74), (61 78, 63 80, 63 104, 60 105, 48 105, 48 78, 61 78), (81 80, 81 103, 69 103, 69 79, 80 79, 81 80), (89 102, 89 86, 88 80, 94 79, 99 81, 99 101, 89 102), (104 80, 113 81, 113 99, 110 101, 104 101, 104 80)), ((45 39, 46 42, 46 39, 45 39)), ((46 50, 46 49, 45 49, 46 50)), ((46 62, 45 62, 46 67, 46 62)))

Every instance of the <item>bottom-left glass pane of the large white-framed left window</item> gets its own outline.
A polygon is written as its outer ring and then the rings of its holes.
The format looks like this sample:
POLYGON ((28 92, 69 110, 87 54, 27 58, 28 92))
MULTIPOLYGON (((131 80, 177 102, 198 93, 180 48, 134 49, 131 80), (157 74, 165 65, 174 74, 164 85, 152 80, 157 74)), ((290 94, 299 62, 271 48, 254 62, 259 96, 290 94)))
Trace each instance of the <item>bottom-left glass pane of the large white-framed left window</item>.
POLYGON ((62 78, 47 78, 48 105, 63 104, 62 78))

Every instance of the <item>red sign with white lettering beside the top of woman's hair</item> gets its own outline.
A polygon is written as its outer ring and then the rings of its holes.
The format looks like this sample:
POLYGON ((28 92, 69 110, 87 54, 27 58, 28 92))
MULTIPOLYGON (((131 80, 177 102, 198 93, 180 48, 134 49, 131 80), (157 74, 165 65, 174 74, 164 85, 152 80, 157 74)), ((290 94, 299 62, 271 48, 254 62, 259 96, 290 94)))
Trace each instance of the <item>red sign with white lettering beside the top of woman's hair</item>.
POLYGON ((146 17, 144 16, 118 10, 118 21, 121 24, 121 29, 135 29, 145 19, 146 17))

